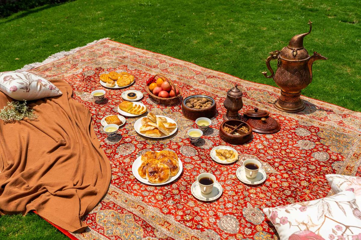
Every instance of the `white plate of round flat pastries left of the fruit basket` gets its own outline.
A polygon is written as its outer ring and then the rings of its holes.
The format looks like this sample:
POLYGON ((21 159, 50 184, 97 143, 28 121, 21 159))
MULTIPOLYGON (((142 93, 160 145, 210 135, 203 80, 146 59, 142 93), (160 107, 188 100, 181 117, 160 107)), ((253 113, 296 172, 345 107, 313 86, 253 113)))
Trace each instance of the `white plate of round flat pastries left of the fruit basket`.
POLYGON ((134 76, 127 72, 110 72, 100 74, 100 85, 110 89, 128 87, 134 83, 134 76))

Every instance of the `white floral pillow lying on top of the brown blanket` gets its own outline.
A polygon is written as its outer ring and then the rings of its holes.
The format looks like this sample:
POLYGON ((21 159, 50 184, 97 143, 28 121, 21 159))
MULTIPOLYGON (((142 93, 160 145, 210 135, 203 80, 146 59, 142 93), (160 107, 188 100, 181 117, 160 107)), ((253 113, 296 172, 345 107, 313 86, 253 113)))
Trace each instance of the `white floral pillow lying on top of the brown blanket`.
POLYGON ((53 83, 26 71, 1 72, 0 90, 10 98, 19 101, 37 100, 62 94, 53 83))

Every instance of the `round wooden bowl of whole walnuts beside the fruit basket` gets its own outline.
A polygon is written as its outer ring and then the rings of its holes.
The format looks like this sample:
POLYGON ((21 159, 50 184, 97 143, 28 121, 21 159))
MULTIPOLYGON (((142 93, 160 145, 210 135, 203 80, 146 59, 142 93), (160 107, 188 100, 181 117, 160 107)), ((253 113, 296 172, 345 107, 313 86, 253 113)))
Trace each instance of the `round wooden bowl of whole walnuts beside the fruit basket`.
POLYGON ((195 121, 199 117, 212 118, 216 115, 216 101, 207 95, 192 95, 182 102, 184 117, 195 121))

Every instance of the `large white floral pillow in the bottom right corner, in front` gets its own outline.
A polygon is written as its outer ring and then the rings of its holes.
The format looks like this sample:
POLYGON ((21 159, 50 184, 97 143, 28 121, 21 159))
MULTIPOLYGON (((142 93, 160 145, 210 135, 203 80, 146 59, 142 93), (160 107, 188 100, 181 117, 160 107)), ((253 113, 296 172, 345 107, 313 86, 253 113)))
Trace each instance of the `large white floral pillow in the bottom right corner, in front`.
POLYGON ((361 211, 351 191, 263 212, 281 240, 361 240, 361 211))

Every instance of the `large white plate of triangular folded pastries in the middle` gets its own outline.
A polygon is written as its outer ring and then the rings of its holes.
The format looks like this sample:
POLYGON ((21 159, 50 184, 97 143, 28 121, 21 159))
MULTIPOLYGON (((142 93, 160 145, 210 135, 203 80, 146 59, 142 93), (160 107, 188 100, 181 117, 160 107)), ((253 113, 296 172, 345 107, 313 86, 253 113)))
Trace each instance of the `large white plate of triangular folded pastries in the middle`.
POLYGON ((173 135, 178 126, 173 119, 150 112, 147 117, 139 118, 134 123, 134 129, 144 137, 163 138, 173 135))

